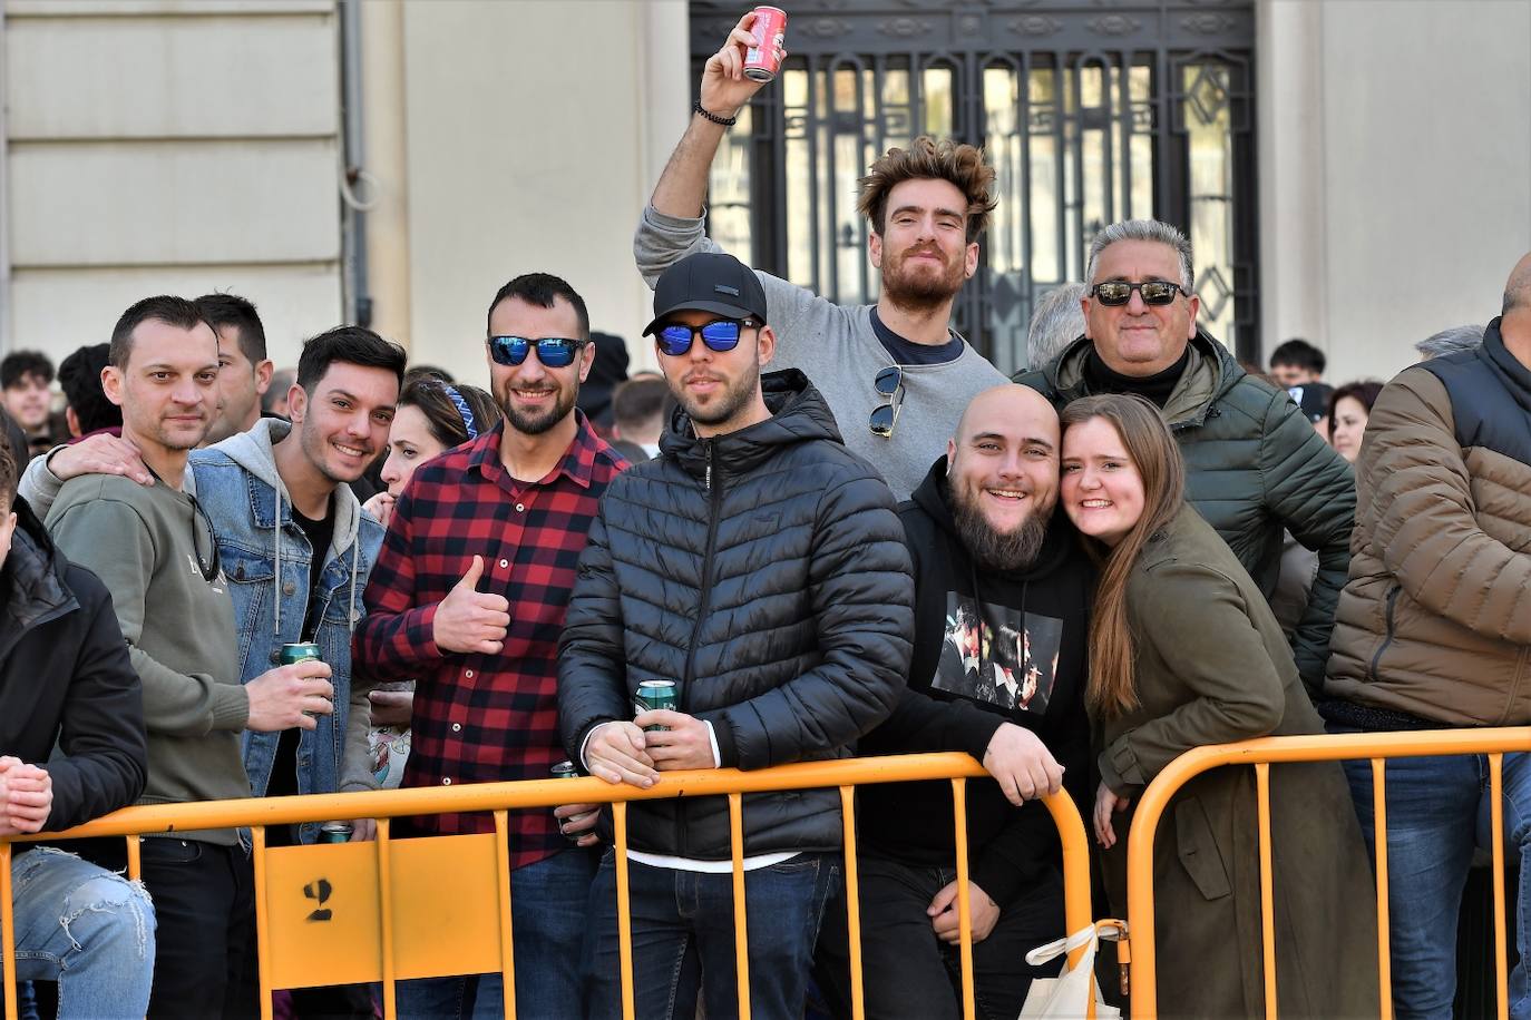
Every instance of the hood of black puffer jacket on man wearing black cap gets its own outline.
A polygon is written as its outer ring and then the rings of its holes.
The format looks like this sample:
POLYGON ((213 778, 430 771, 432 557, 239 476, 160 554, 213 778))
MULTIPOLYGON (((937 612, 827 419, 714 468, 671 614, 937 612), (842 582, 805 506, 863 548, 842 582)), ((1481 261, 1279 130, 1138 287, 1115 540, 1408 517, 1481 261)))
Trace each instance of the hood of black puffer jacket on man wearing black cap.
POLYGON ((824 396, 798 369, 767 372, 761 376, 761 393, 770 417, 723 436, 701 439, 692 428, 690 414, 677 404, 669 428, 660 436, 660 453, 675 459, 687 473, 706 477, 709 460, 724 474, 746 474, 759 466, 782 447, 814 439, 842 443, 834 413, 824 396))

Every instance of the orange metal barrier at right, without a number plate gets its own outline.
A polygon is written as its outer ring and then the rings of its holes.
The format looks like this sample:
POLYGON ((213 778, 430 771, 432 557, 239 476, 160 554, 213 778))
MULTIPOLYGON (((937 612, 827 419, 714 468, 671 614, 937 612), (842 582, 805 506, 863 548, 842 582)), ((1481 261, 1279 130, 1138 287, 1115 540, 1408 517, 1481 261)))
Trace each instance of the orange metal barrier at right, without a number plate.
MULTIPOLYGON (((1343 762, 1369 759, 1372 798, 1376 814, 1376 940, 1381 1015, 1393 1015, 1392 973, 1389 963, 1387 910, 1387 803, 1384 762, 1387 759, 1487 754, 1493 803, 1494 855, 1494 947, 1499 986, 1499 1017, 1508 1017, 1508 974, 1505 971, 1505 847, 1500 780, 1507 752, 1531 751, 1531 728, 1433 729, 1422 733, 1332 734, 1311 737, 1265 737, 1242 743, 1211 745, 1188 751, 1171 762, 1144 791, 1127 835, 1127 922, 1131 931, 1131 1015, 1157 1015, 1157 974, 1154 971, 1153 841, 1170 800, 1190 780, 1225 765, 1251 765, 1255 769, 1260 829, 1260 905, 1262 951, 1265 962, 1265 1011, 1277 1017, 1275 1002, 1275 922, 1271 887, 1271 801, 1269 766, 1291 762, 1343 762)), ((1069 922, 1073 927, 1073 922, 1069 922)))

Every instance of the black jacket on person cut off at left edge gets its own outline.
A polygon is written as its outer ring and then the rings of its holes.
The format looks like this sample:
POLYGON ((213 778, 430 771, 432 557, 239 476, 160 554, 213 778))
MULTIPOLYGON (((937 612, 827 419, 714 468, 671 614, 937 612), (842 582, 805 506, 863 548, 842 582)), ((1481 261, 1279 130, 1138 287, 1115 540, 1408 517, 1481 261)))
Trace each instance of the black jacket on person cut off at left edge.
POLYGON ((106 587, 64 560, 26 500, 15 512, 0 569, 0 752, 47 768, 58 830, 138 800, 144 703, 106 587))

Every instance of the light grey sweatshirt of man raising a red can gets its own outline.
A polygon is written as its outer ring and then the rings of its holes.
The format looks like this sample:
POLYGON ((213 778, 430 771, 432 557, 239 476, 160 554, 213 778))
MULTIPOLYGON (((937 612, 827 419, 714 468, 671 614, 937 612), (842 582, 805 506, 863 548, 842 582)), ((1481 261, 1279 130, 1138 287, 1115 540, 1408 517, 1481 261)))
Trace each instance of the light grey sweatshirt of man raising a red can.
MULTIPOLYGON (((652 205, 643 210, 632 254, 652 287, 660 274, 694 251, 723 251, 707 237, 703 219, 666 216, 652 205)), ((873 387, 877 372, 894 364, 871 326, 871 304, 844 306, 807 287, 755 271, 766 287, 766 313, 776 332, 772 369, 801 369, 824 395, 845 437, 845 445, 882 471, 899 500, 925 480, 946 440, 957 431, 968 402, 1009 382, 965 339, 954 361, 903 367, 903 405, 893 436, 873 434, 868 419, 886 404, 873 387)))

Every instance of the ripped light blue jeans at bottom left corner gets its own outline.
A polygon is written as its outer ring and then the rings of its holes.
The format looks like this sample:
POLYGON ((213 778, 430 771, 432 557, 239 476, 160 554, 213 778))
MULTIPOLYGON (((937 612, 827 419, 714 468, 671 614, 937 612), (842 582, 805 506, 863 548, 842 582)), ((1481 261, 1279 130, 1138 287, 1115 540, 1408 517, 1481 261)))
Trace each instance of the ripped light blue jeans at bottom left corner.
POLYGON ((18 980, 58 982, 58 1017, 142 1017, 155 910, 141 885, 52 847, 11 859, 18 980))

